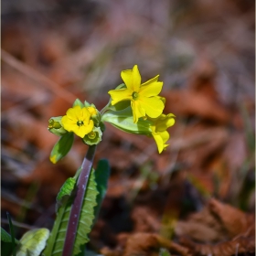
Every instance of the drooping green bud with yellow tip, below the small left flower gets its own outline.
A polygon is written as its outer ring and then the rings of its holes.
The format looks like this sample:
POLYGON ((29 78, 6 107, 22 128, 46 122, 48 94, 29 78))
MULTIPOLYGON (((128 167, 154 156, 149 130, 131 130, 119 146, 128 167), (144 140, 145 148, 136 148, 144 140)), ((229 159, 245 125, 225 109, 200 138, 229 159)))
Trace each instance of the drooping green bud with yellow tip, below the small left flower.
POLYGON ((69 153, 69 150, 74 142, 74 133, 66 133, 59 139, 59 142, 54 145, 50 153, 50 161, 56 164, 61 158, 69 153))

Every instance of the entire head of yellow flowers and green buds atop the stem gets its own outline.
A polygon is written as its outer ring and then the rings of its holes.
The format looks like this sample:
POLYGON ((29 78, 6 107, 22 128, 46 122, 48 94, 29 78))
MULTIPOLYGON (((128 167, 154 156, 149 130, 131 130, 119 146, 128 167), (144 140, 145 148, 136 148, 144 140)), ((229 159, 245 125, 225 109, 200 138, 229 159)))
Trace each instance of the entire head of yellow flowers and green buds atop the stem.
POLYGON ((175 115, 163 113, 165 98, 159 96, 163 88, 163 82, 158 81, 159 75, 142 83, 139 69, 135 65, 133 69, 123 70, 121 77, 124 83, 109 91, 111 99, 101 112, 87 101, 82 103, 76 100, 66 115, 49 120, 49 132, 60 136, 50 155, 53 163, 68 154, 74 134, 84 144, 99 144, 104 122, 127 133, 153 137, 158 152, 165 150, 169 140, 167 129, 174 125, 175 115))

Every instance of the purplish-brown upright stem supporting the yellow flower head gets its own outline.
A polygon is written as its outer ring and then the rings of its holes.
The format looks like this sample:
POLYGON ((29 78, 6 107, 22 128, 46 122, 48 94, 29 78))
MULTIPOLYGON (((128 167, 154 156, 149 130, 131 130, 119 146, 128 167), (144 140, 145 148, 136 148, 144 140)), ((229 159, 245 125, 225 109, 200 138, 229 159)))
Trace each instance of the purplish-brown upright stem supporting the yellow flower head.
POLYGON ((63 256, 72 255, 78 224, 80 221, 80 211, 83 203, 83 197, 85 195, 88 179, 91 173, 91 165, 93 162, 95 150, 96 145, 91 145, 89 147, 87 155, 84 157, 81 165, 80 176, 77 184, 76 197, 74 198, 69 215, 69 224, 62 253, 63 256))

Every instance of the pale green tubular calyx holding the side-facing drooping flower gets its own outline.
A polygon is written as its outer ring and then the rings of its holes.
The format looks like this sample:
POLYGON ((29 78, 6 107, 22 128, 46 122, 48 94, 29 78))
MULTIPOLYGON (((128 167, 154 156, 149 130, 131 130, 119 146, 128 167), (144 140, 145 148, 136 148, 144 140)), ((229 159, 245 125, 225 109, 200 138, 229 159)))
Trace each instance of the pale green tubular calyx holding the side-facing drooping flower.
POLYGON ((133 123, 133 112, 131 107, 120 112, 104 112, 101 121, 111 123, 113 126, 126 133, 144 134, 148 136, 152 133, 150 126, 154 124, 152 121, 144 120, 143 118, 140 118, 137 123, 133 123))

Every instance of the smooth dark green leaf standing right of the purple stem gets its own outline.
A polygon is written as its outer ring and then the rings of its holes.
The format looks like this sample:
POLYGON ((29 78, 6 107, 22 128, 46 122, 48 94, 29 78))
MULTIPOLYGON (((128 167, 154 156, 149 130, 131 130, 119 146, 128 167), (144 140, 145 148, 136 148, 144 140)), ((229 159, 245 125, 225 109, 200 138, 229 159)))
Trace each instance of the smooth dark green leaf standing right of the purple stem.
POLYGON ((106 159, 101 159, 98 162, 98 165, 95 171, 95 181, 97 184, 97 190, 99 191, 99 194, 97 196, 97 206, 94 208, 94 215, 95 215, 94 222, 96 221, 99 215, 101 203, 106 195, 110 171, 111 171, 111 168, 109 165, 109 161, 106 159))

